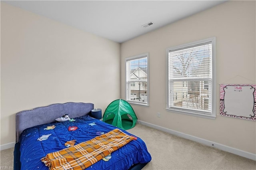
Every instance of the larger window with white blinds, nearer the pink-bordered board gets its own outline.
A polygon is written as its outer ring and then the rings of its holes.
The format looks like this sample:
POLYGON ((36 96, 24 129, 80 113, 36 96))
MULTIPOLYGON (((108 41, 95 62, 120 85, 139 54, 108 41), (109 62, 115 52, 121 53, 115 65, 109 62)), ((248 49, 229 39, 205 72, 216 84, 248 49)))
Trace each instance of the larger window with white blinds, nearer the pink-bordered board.
POLYGON ((208 38, 166 50, 168 111, 215 119, 215 41, 208 38))

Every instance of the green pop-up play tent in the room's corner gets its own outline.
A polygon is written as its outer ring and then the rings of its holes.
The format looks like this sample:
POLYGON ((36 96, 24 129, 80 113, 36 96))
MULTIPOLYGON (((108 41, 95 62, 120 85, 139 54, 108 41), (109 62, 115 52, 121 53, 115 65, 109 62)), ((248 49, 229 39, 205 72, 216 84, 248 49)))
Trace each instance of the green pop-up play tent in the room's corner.
POLYGON ((115 127, 127 130, 136 125, 137 116, 132 106, 125 100, 112 101, 103 115, 103 121, 115 127))

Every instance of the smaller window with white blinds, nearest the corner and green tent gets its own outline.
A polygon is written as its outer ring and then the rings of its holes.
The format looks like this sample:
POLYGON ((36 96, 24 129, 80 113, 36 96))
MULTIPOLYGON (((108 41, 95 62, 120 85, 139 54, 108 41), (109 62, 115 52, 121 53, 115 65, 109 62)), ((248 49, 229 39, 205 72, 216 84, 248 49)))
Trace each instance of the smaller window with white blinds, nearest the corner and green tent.
POLYGON ((148 53, 126 59, 126 101, 148 105, 148 53))

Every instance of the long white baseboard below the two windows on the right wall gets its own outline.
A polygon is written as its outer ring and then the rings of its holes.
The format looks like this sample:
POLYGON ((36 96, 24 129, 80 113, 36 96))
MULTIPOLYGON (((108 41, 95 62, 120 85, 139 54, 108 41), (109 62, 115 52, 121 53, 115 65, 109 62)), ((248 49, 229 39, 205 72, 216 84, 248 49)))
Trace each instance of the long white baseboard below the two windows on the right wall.
POLYGON ((164 131, 164 132, 167 132, 167 133, 170 133, 170 134, 174 134, 174 135, 182 137, 182 138, 193 140, 195 142, 202 143, 202 144, 205 144, 207 146, 218 148, 220 150, 230 152, 232 154, 236 154, 236 155, 239 155, 239 156, 243 156, 245 158, 256 160, 256 154, 253 154, 253 153, 250 153, 250 152, 246 152, 246 151, 243 151, 243 150, 232 148, 230 146, 226 146, 226 145, 223 145, 223 144, 212 142, 210 140, 205 140, 203 138, 198 138, 196 136, 192 136, 192 135, 185 134, 185 133, 182 133, 182 132, 178 132, 178 131, 175 131, 175 130, 171 130, 171 129, 168 129, 168 128, 160 127, 158 125, 154 125, 154 124, 147 123, 147 122, 144 122, 144 121, 138 120, 138 123, 141 124, 141 125, 145 125, 147 127, 155 128, 157 130, 161 130, 161 131, 164 131))

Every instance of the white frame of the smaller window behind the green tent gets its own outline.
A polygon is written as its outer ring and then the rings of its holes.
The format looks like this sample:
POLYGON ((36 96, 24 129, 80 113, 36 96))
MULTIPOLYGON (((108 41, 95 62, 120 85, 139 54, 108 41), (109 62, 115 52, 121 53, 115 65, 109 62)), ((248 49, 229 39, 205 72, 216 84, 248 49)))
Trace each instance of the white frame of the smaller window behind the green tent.
MULTIPOLYGON (((140 105, 140 106, 149 106, 149 53, 143 53, 143 54, 140 54, 140 55, 135 55, 135 56, 132 56, 132 57, 128 57, 128 58, 125 58, 125 81, 126 81, 126 88, 125 88, 125 98, 126 98, 126 101, 128 102, 128 103, 130 103, 130 104, 135 104, 135 105, 140 105), (136 60, 136 59, 140 59, 140 58, 144 58, 144 57, 146 57, 147 58, 147 103, 143 103, 143 102, 139 102, 139 101, 133 101, 133 100, 128 100, 127 99, 127 90, 128 90, 128 87, 127 87, 127 85, 128 85, 128 81, 127 81, 127 79, 128 79, 128 77, 127 77, 127 61, 132 61, 132 60, 136 60)), ((130 94, 132 94, 132 93, 130 93, 130 94)))

